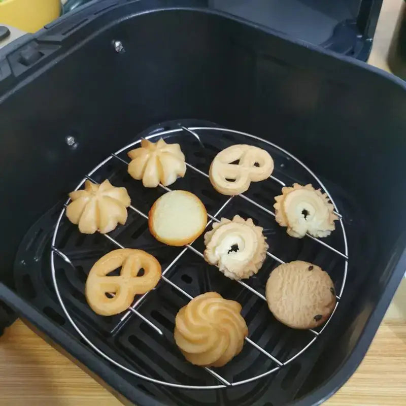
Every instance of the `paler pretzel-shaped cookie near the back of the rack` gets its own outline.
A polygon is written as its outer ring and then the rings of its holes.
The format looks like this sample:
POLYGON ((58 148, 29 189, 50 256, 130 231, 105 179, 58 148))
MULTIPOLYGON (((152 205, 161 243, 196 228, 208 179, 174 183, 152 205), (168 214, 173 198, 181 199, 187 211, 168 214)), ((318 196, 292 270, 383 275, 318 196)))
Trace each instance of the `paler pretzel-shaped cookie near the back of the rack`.
POLYGON ((274 160, 252 145, 232 145, 220 151, 210 165, 210 182, 222 194, 245 192, 251 182, 263 181, 274 171, 274 160), (232 163, 239 161, 238 163, 232 163))

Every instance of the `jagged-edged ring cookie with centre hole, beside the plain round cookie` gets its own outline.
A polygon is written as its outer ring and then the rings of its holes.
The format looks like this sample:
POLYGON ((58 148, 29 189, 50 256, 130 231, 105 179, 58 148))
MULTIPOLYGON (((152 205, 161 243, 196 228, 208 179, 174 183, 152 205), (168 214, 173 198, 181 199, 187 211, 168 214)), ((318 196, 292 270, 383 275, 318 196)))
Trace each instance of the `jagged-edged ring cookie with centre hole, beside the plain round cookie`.
POLYGON ((205 259, 230 279, 250 278, 261 268, 268 245, 262 227, 239 215, 222 218, 205 234, 205 259))

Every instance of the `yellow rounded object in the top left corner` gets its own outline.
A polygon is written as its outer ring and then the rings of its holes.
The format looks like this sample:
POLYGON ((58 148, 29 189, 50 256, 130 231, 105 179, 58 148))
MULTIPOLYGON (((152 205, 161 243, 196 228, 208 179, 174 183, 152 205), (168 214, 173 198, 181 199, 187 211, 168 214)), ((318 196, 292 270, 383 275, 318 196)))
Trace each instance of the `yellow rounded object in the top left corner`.
POLYGON ((36 32, 61 11, 60 0, 0 0, 0 25, 36 32))

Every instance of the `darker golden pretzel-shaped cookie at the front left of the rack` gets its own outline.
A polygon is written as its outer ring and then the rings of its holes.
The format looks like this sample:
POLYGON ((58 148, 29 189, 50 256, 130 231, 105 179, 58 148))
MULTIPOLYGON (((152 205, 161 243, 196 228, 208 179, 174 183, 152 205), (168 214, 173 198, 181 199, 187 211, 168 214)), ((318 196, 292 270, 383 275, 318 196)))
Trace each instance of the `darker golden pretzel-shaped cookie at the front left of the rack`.
POLYGON ((152 255, 129 248, 110 251, 90 269, 86 280, 86 299, 101 316, 121 313, 131 306, 134 296, 153 289, 161 277, 161 265, 152 255), (121 266, 120 276, 108 276, 121 266), (144 275, 138 276, 144 269, 144 275), (112 297, 107 293, 114 293, 112 297))

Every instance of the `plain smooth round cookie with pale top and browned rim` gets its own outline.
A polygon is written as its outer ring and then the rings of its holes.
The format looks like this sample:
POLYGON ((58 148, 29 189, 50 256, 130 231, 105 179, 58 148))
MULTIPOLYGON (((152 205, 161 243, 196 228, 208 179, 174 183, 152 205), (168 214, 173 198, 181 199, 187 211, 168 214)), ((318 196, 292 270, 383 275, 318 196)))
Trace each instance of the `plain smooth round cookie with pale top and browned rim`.
POLYGON ((194 241, 207 224, 201 200, 186 190, 173 190, 159 197, 149 212, 151 234, 161 243, 180 247, 194 241))

